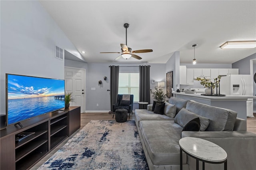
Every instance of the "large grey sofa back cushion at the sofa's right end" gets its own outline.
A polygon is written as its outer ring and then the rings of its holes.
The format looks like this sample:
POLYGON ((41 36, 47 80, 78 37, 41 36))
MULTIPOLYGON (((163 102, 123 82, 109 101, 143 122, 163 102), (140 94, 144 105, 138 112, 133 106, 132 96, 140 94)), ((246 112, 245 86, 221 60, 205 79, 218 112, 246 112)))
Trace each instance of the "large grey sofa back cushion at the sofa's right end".
POLYGON ((211 120, 206 131, 232 131, 236 122, 237 112, 217 108, 198 102, 188 101, 186 109, 211 120))

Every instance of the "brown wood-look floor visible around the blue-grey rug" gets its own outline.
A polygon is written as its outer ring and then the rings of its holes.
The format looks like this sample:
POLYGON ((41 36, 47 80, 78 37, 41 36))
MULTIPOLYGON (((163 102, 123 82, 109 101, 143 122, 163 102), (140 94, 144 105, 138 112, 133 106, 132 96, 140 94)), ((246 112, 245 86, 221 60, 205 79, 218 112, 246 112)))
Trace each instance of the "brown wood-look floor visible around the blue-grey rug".
MULTIPOLYGON (((108 113, 81 113, 81 127, 82 129, 91 120, 114 120, 112 118, 113 114, 108 113)), ((256 113, 254 113, 255 118, 247 118, 247 131, 256 134, 256 113)), ((130 115, 130 120, 134 120, 134 114, 130 115)), ((52 152, 46 155, 42 160, 40 160, 31 170, 36 170, 39 168, 46 160, 48 160, 55 152, 57 152, 70 138, 72 138, 79 130, 77 130, 72 136, 64 140, 59 146, 57 146, 52 152)))

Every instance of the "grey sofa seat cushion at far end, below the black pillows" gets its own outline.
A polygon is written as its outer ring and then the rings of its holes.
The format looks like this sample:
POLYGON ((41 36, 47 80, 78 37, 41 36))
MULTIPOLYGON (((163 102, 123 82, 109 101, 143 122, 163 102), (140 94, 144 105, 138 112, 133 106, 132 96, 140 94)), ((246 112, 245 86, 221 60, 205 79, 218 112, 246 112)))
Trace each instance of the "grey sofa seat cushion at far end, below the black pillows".
POLYGON ((174 120, 174 118, 170 118, 166 115, 155 114, 152 111, 148 111, 146 109, 135 109, 135 120, 136 124, 142 120, 174 120))

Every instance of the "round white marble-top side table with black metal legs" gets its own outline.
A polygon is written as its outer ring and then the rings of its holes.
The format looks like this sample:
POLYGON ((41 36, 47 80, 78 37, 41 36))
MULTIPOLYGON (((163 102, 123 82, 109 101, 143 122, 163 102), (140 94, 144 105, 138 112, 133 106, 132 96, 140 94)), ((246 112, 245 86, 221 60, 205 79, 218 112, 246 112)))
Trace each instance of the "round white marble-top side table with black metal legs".
POLYGON ((199 160, 204 163, 222 164, 227 170, 227 153, 220 146, 201 138, 181 138, 180 144, 180 170, 182 170, 182 151, 196 159, 196 170, 199 170, 199 160))

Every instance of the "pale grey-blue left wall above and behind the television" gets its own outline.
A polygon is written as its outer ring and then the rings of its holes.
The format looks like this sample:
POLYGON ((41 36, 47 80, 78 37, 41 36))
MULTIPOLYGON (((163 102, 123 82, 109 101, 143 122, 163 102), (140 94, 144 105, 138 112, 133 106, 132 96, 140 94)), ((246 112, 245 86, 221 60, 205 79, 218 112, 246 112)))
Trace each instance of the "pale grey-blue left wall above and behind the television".
POLYGON ((0 112, 4 114, 6 73, 64 79, 64 60, 54 57, 55 45, 77 50, 38 1, 1 1, 0 9, 0 112))

